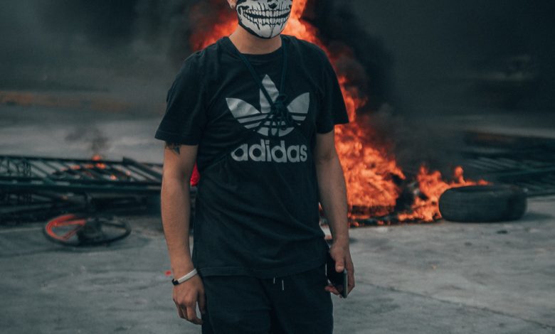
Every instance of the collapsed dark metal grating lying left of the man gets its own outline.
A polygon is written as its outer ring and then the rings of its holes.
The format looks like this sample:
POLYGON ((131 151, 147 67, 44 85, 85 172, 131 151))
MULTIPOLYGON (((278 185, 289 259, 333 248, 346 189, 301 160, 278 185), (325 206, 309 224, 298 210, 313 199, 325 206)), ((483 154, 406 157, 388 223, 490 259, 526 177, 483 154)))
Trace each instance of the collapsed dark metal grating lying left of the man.
POLYGON ((0 156, 0 223, 43 220, 70 210, 149 208, 161 187, 162 164, 0 156))

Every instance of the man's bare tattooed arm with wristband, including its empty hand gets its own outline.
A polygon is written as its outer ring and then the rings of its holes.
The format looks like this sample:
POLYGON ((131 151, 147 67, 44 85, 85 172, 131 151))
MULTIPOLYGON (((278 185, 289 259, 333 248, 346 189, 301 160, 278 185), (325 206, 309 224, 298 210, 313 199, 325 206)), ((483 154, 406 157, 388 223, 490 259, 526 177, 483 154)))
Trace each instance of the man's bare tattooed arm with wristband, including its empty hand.
MULTIPOLYGON (((189 248, 191 199, 189 180, 193 173, 198 146, 166 143, 162 176, 162 225, 174 278, 194 269, 189 248)), ((204 286, 199 275, 174 286, 174 303, 181 318, 200 325, 196 304, 203 313, 206 307, 204 286)))

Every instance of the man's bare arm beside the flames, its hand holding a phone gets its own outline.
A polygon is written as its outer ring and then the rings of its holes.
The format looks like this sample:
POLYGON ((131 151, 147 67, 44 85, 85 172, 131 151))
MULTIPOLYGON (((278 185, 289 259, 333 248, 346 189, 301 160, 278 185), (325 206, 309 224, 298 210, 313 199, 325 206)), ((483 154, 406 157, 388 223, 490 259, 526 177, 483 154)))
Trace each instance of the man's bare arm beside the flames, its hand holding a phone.
MULTIPOLYGON (((347 187, 335 150, 334 131, 317 134, 314 163, 316 164, 320 203, 333 237, 333 244, 329 252, 336 261, 338 272, 343 271, 344 268, 349 271, 348 291, 350 292, 354 288, 354 266, 349 250, 347 187)), ((339 294, 339 291, 331 286, 328 286, 327 290, 339 294)))

